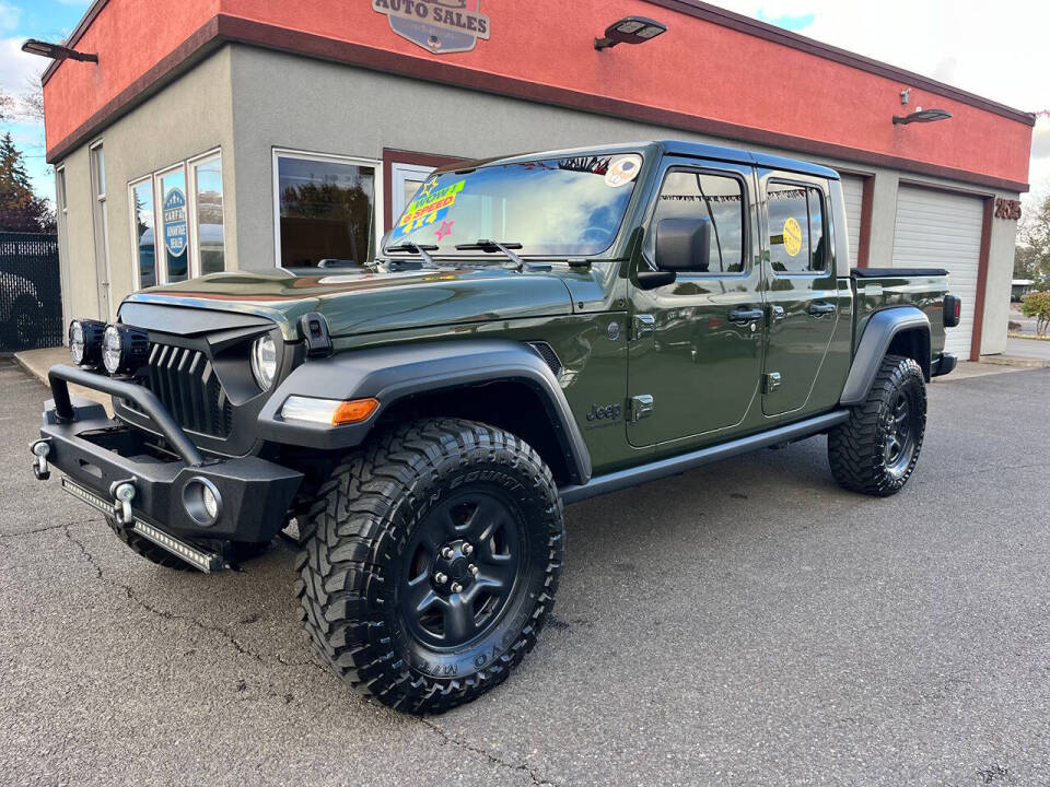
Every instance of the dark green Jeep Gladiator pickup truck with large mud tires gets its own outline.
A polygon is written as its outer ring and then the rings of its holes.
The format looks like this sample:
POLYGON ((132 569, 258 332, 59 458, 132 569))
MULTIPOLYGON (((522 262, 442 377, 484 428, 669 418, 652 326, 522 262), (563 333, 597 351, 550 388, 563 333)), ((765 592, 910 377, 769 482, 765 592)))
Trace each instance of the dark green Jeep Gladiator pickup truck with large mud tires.
POLYGON ((815 435, 847 489, 905 485, 960 304, 943 270, 849 259, 839 176, 800 161, 662 141, 450 166, 368 265, 72 322, 34 471, 168 568, 294 525, 318 658, 445 710, 535 645, 564 503, 815 435))

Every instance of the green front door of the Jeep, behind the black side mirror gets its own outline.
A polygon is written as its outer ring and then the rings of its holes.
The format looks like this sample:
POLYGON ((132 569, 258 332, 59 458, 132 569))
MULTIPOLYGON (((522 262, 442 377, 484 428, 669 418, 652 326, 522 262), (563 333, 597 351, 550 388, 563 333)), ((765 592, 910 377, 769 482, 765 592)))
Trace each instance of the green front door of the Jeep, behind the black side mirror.
POLYGON ((744 420, 757 396, 765 319, 754 173, 749 166, 668 161, 642 266, 653 266, 658 222, 712 225, 707 270, 654 290, 631 287, 628 438, 649 446, 696 438, 744 420))

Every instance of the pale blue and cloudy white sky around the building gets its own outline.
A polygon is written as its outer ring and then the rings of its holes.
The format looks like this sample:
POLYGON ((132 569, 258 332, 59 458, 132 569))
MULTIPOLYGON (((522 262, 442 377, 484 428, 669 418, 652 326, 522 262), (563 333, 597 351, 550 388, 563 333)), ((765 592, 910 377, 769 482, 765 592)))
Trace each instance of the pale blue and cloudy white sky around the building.
MULTIPOLYGON (((1050 110, 1047 0, 1013 0, 1002 5, 976 0, 715 0, 714 4, 1017 109, 1050 110)), ((48 61, 23 54, 22 42, 65 38, 88 5, 89 0, 0 0, 0 85, 8 92, 23 91, 48 61)), ((43 127, 0 125, 0 132, 5 130, 24 151, 39 193, 52 198, 55 184, 44 160, 43 127)), ((1031 195, 1026 202, 1050 193, 1050 117, 1036 124, 1028 180, 1031 195)))

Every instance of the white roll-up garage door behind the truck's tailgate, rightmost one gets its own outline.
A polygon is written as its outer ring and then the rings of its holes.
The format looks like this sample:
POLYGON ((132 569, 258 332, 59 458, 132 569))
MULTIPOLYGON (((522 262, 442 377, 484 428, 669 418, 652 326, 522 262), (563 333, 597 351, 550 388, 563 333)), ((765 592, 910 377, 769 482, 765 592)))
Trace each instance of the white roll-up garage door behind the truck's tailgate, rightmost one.
POLYGON ((981 256, 984 203, 975 197, 901 186, 897 192, 895 268, 944 268, 948 287, 962 298, 962 319, 947 332, 945 349, 968 360, 981 256))

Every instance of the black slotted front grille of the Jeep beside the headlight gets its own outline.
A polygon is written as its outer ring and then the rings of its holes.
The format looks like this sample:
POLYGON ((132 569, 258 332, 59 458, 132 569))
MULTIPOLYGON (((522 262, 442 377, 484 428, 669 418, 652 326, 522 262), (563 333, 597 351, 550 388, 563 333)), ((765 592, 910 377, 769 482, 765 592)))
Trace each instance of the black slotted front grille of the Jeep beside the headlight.
POLYGON ((143 384, 183 428, 214 437, 230 436, 233 407, 211 361, 202 352, 170 344, 151 345, 143 384))

